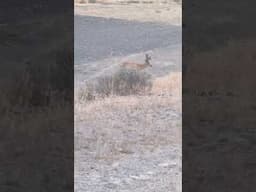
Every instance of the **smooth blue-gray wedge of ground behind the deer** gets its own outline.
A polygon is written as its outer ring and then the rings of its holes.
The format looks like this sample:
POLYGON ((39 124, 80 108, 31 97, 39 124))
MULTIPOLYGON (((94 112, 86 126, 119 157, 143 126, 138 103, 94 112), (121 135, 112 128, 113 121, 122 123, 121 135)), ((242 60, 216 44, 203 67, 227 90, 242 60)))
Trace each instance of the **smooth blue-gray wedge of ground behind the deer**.
POLYGON ((181 43, 181 27, 75 15, 75 65, 181 43))

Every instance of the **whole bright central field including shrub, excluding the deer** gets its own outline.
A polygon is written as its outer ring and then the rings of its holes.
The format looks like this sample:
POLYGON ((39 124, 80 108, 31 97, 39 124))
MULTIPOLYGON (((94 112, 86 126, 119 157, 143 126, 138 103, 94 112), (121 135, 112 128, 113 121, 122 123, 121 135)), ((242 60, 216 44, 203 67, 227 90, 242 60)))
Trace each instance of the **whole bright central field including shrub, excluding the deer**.
POLYGON ((180 10, 75 7, 76 192, 181 191, 180 10))

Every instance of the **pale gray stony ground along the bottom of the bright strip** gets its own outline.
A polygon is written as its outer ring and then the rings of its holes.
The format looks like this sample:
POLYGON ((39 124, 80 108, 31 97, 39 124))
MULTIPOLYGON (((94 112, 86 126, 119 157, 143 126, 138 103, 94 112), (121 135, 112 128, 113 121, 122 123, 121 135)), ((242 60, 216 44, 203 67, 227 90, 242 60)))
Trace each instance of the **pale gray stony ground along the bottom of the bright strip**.
POLYGON ((77 161, 76 192, 181 191, 181 151, 175 145, 134 154, 109 165, 83 161, 82 155, 77 161))

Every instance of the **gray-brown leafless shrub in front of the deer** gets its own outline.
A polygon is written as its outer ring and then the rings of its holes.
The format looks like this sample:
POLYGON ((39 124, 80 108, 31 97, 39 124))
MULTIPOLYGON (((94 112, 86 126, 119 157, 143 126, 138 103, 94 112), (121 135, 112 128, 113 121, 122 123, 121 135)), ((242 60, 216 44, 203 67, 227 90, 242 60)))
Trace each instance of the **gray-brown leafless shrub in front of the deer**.
POLYGON ((111 95, 127 96, 146 94, 151 91, 152 77, 146 72, 121 69, 112 75, 96 79, 94 84, 87 84, 78 93, 78 99, 91 101, 96 97, 111 95))

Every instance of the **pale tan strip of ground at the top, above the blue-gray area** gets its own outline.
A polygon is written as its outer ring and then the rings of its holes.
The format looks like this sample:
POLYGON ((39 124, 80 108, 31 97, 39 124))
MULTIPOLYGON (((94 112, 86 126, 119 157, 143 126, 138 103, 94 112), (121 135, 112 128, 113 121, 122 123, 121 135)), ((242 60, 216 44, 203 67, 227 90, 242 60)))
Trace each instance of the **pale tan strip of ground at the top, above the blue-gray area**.
POLYGON ((77 15, 115 18, 128 21, 164 23, 180 26, 181 5, 169 4, 79 4, 75 6, 77 15))

